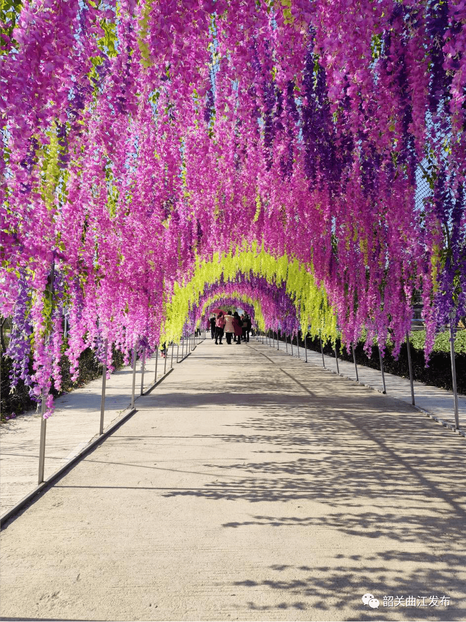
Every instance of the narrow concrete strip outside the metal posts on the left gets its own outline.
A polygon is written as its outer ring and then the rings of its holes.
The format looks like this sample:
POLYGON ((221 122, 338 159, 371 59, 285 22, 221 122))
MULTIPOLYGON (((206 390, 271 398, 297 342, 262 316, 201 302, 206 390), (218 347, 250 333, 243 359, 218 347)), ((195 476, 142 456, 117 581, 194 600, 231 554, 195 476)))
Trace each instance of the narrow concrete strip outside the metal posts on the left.
MULTIPOLYGON (((185 346, 184 350, 187 350, 185 346)), ((176 363, 177 348, 174 350, 176 363)), ((181 358, 181 351, 179 353, 181 358)), ((171 349, 167 359, 170 368, 171 349)), ((155 355, 146 361, 144 389, 154 382, 155 355)), ((157 378, 161 378, 165 360, 157 362, 157 378)), ((104 429, 129 407, 132 389, 132 368, 116 371, 106 381, 104 429)), ((77 455, 100 426, 102 379, 74 389, 55 401, 55 412, 47 420, 44 478, 77 455)), ((141 392, 141 363, 137 363, 136 397, 141 392)), ((40 412, 29 411, 0 426, 0 516, 12 508, 37 486, 39 472, 40 412)))

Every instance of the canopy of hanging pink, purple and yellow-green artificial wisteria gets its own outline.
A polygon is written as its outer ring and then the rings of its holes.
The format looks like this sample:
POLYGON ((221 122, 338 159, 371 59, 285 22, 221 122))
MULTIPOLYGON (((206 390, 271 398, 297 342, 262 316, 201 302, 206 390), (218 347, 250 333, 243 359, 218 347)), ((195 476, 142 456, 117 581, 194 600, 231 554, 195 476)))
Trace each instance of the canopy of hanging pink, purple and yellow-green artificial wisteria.
POLYGON ((49 394, 63 348, 75 374, 105 339, 154 350, 254 279, 266 327, 347 343, 396 350, 421 297, 428 354, 466 314, 465 0, 1 11, 13 386, 49 394))

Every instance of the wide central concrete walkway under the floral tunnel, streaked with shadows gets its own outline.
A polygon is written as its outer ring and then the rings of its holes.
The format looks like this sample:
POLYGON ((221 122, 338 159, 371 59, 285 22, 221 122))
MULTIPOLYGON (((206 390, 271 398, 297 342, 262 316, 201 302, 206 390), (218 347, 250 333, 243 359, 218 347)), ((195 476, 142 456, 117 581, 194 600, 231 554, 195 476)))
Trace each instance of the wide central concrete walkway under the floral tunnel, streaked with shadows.
POLYGON ((1 620, 466 619, 462 437, 253 341, 137 407, 2 531, 1 620))

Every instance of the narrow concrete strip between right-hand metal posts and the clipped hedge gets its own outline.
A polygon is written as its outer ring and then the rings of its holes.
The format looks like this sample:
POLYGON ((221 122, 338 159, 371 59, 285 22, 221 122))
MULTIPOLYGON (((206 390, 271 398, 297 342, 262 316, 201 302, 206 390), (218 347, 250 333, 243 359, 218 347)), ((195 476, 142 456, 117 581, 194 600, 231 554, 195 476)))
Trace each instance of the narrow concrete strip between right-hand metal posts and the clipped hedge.
MULTIPOLYGON (((266 338, 264 343, 269 343, 268 338, 266 338)), ((283 341, 280 341, 278 344, 276 340, 271 340, 270 344, 272 348, 276 348, 278 346, 280 350, 283 350, 284 352, 287 352, 288 355, 291 355, 290 343, 286 346, 283 341)), ((298 353, 298 348, 294 345, 292 356, 296 356, 296 358, 298 358, 298 354, 299 358, 304 360, 306 354, 304 348, 299 348, 298 353)), ((322 354, 307 348, 307 361, 310 364, 322 367, 322 354)), ((334 356, 324 355, 324 362, 325 369, 329 369, 329 371, 337 373, 337 363, 334 356)), ((343 361, 339 358, 338 371, 345 378, 350 378, 353 381, 356 381, 356 371, 353 363, 348 363, 348 361, 343 361)), ((406 402, 406 404, 411 404, 411 385, 409 384, 409 378, 401 378, 400 376, 394 376, 394 374, 388 374, 386 372, 384 373, 384 376, 387 394, 392 397, 396 397, 397 399, 401 399, 406 402)), ((358 381, 365 386, 376 389, 376 391, 383 391, 382 375, 377 369, 358 365, 358 381)), ((417 381, 414 381, 413 384, 414 402, 417 408, 419 408, 422 412, 433 415, 434 419, 442 425, 446 425, 450 429, 454 429, 455 410, 453 392, 445 391, 445 389, 432 387, 417 381)), ((464 395, 459 395, 458 397, 458 410, 460 434, 465 436, 466 396, 464 395)))

